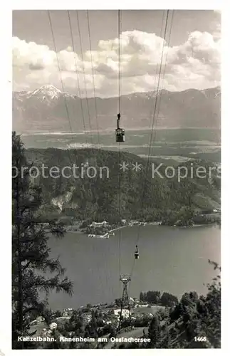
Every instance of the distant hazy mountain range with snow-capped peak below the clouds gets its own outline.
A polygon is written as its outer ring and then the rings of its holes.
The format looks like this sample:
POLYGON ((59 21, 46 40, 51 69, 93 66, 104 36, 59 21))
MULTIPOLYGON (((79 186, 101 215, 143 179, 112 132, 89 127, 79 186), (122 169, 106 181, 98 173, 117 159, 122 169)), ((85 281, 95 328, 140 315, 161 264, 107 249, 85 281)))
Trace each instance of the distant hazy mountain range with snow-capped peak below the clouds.
MULTIPOLYGON (((220 91, 220 87, 182 92, 161 90, 156 110, 156 92, 123 95, 121 126, 152 127, 155 110, 157 127, 220 128, 220 91)), ((43 85, 32 92, 14 92, 12 100, 13 130, 17 132, 83 131, 84 127, 85 130, 112 130, 116 126, 117 98, 96 98, 98 125, 94 98, 80 99, 53 85, 43 85)))

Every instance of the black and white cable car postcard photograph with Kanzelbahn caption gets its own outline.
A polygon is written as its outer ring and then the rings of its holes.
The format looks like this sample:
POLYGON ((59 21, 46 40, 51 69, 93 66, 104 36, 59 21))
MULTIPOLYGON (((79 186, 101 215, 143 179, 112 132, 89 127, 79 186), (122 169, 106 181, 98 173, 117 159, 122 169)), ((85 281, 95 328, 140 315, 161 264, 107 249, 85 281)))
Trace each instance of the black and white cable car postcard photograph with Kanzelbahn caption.
POLYGON ((221 10, 73 6, 11 14, 11 348, 220 349, 221 10))

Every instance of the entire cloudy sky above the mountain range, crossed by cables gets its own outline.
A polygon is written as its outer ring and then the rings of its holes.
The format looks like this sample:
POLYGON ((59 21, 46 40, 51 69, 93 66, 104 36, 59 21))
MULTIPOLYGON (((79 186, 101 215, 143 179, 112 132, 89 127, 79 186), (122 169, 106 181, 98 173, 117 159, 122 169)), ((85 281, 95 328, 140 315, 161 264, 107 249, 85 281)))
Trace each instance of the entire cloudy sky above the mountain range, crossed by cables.
POLYGON ((106 98, 220 85, 219 11, 122 10, 120 19, 119 51, 118 11, 13 11, 13 90, 51 84, 106 98))

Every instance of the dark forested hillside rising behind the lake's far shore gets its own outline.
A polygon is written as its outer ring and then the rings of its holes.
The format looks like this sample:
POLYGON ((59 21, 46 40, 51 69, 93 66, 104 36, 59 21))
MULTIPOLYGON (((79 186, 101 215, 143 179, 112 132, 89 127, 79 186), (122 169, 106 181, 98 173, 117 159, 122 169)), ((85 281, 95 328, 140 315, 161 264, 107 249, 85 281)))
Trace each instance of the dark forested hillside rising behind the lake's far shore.
MULTIPOLYGON (((194 209, 210 209, 219 207, 220 203, 220 179, 217 177, 215 169, 212 178, 191 177, 191 169, 196 167, 207 167, 207 162, 197 161, 187 162, 183 166, 188 168, 188 177, 178 181, 177 172, 175 177, 166 177, 166 167, 157 169, 155 164, 155 177, 152 177, 152 162, 149 162, 147 169, 147 159, 126 152, 117 152, 83 149, 83 150, 58 150, 50 148, 48 150, 27 150, 26 155, 29 162, 33 162, 41 172, 41 164, 46 166, 48 177, 34 179, 43 191, 46 204, 44 211, 52 211, 75 216, 78 219, 95 219, 101 221, 108 219, 111 221, 120 219, 162 219, 170 211, 177 211, 184 206, 194 209), (119 160, 120 158, 120 160, 119 160), (127 169, 123 172, 119 166, 122 162, 127 164, 127 169), (135 168, 135 164, 140 164, 140 169, 135 168), (69 178, 50 177, 48 172, 51 167, 80 167, 78 175, 73 177, 70 168, 65 174, 71 174, 69 178), (84 166, 84 168, 82 168, 84 166), (94 178, 87 176, 87 167, 94 167, 88 172, 96 174, 94 178), (104 168, 103 168, 104 167, 104 168), (107 168, 105 168, 107 167, 107 168), (101 174, 100 174, 101 171, 101 174), (80 173, 81 172, 81 173, 80 173), (161 176, 160 176, 161 174, 161 176)), ((172 172, 167 171, 168 175, 172 172)), ((184 174, 184 173, 183 173, 184 174)), ((55 174, 53 174, 55 176, 55 174)), ((204 176, 204 174, 203 174, 204 176)))

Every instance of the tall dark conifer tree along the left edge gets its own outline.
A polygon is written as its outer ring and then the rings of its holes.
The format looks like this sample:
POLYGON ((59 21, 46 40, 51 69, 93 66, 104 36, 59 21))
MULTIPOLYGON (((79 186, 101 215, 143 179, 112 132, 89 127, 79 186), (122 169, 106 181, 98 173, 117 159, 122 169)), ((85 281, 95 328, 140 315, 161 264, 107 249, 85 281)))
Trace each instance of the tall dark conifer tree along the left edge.
MULTIPOLYGON (((33 185, 33 167, 26 161, 21 137, 12 135, 12 347, 28 348, 31 342, 18 340, 27 336, 31 318, 42 315, 47 320, 48 294, 73 293, 73 284, 64 276, 58 258, 50 258, 48 239, 63 237, 63 226, 44 222, 41 188, 33 185), (51 277, 48 277, 49 276, 51 277), (45 298, 41 300, 41 292, 45 298)), ((47 320, 48 321, 48 320, 47 320)), ((34 345, 33 345, 34 347, 34 345)))

